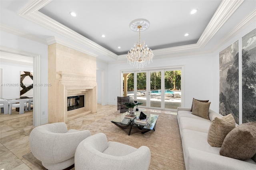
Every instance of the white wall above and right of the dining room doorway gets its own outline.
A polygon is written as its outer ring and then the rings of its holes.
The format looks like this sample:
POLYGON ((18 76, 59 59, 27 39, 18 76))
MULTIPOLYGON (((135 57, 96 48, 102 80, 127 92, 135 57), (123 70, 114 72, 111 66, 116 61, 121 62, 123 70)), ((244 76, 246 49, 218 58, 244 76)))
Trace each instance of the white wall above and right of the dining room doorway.
MULTIPOLYGON (((48 45, 3 31, 0 34, 0 45, 40 55, 40 83, 48 83, 48 45)), ((44 124, 46 121, 48 123, 48 87, 40 87, 40 108, 41 123, 44 124), (45 115, 42 115, 42 111, 45 112, 45 115)))

